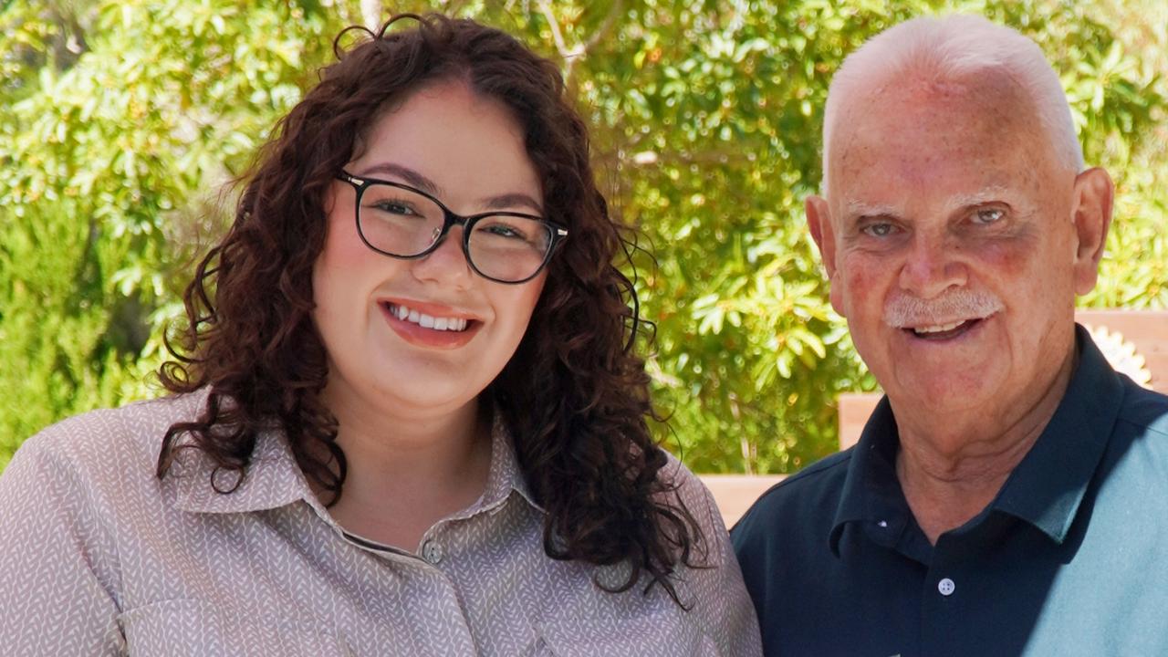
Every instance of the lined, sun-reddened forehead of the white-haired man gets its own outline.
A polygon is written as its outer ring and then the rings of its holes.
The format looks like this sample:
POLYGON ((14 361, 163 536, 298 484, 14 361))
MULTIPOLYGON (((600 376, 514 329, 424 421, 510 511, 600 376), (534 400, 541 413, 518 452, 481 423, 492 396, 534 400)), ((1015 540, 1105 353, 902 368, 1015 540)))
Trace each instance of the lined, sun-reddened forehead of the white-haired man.
POLYGON ((1051 145, 1021 90, 996 77, 909 81, 856 103, 827 161, 835 212, 902 214, 924 194, 957 208, 1028 185, 1018 177, 1054 158, 1051 145))

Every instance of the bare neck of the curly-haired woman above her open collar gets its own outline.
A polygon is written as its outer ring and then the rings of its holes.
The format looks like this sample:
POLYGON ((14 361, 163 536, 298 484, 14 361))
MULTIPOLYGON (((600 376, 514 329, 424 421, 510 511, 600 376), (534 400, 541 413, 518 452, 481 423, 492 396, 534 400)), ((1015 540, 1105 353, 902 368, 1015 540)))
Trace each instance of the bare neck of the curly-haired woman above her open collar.
POLYGON ((327 399, 348 473, 329 512, 346 531, 416 551, 442 518, 473 504, 491 468, 491 419, 477 400, 452 413, 395 413, 327 399))

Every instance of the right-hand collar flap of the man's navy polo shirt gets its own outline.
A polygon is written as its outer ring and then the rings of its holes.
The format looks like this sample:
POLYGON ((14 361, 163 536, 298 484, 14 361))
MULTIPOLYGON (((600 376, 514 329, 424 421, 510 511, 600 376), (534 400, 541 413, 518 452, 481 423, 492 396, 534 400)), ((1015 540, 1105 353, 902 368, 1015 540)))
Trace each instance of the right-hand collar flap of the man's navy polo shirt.
POLYGON ((1124 385, 1083 326, 1079 362, 1055 415, 1010 473, 992 509, 1030 523, 1063 542, 1107 448, 1124 385))

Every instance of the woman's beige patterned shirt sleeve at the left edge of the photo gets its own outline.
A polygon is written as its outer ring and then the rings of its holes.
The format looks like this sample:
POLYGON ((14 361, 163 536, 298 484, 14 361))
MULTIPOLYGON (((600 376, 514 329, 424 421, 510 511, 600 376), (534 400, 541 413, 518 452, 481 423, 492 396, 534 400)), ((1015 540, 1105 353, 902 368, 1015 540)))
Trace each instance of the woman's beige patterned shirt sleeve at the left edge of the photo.
POLYGON ((112 541, 88 510, 92 491, 48 438, 29 438, 0 476, 0 652, 124 655, 112 541))

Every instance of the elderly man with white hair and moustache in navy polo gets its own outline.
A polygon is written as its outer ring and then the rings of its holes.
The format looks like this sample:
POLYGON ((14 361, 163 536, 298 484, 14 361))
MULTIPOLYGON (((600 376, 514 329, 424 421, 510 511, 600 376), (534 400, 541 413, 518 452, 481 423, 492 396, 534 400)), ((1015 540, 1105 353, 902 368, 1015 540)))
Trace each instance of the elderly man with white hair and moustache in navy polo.
POLYGON ((735 527, 769 655, 1168 655, 1168 397, 1076 327, 1112 182, 1058 77, 917 19, 833 79, 807 220, 887 396, 735 527))

